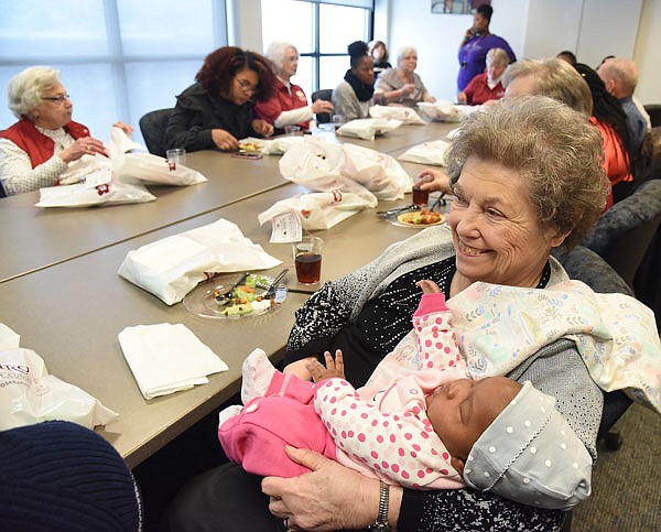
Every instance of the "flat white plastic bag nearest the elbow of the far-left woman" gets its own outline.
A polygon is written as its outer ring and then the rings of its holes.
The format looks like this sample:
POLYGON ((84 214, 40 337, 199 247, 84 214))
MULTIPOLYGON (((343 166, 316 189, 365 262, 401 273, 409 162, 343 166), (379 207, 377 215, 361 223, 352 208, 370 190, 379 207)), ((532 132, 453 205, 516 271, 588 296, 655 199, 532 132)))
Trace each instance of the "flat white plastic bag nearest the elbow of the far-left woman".
POLYGON ((37 207, 93 207, 156 199, 144 186, 112 178, 110 167, 101 167, 75 185, 40 189, 37 207))

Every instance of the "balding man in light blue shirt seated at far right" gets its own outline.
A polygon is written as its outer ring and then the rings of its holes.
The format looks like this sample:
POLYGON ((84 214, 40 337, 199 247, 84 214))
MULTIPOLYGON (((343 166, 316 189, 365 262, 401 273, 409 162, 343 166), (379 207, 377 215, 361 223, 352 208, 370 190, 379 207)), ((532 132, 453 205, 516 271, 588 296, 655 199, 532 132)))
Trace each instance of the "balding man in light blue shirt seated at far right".
POLYGON ((599 66, 597 74, 606 85, 606 90, 622 104, 627 115, 631 146, 635 151, 639 151, 647 132, 647 122, 633 102, 633 90, 638 84, 636 63, 624 57, 611 57, 599 66))

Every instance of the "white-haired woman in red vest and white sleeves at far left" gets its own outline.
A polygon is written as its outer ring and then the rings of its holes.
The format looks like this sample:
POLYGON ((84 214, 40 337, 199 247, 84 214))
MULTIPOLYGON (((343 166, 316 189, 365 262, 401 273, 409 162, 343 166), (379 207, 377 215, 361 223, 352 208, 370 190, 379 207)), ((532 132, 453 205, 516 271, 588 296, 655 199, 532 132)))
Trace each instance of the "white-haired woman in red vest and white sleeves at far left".
MULTIPOLYGON (((77 183, 97 169, 96 153, 108 155, 100 140, 72 121, 74 105, 59 70, 24 69, 9 82, 7 100, 19 119, 0 131, 0 182, 7 195, 77 183)), ((133 131, 123 122, 113 126, 133 131)))

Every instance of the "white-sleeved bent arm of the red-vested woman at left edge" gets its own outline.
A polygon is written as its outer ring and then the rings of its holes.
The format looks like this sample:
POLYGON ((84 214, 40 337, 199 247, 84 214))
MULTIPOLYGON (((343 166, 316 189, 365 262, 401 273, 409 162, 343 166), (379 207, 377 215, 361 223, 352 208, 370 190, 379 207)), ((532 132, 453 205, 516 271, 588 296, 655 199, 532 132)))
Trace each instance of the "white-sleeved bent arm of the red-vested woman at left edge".
POLYGON ((57 155, 32 167, 30 156, 8 139, 0 139, 0 182, 8 196, 53 186, 68 167, 57 155))

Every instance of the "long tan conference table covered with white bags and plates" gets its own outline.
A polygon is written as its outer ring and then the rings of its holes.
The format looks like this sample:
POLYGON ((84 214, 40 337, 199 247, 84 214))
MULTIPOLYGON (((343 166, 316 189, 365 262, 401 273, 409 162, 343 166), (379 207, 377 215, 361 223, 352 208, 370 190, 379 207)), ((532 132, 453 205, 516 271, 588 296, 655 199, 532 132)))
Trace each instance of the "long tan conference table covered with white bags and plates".
MULTIPOLYGON (((453 127, 402 127, 375 142, 357 143, 400 153, 416 143, 444 138, 453 127)), ((150 204, 41 210, 33 206, 36 193, 0 200, 0 222, 11 228, 7 235, 13 235, 12 246, 3 241, 0 251, 0 323, 21 335, 21 346, 35 350, 50 373, 119 413, 97 432, 112 443, 130 467, 236 394, 241 362, 253 348, 262 348, 273 361, 280 360, 294 312, 308 295, 289 293, 275 311, 261 316, 208 318, 192 314, 182 303, 166 305, 120 278, 117 270, 130 250, 224 218, 282 261, 264 274, 273 276, 289 268, 285 285, 301 287, 291 245, 271 243, 270 224, 260 226, 257 219, 275 202, 306 192, 280 176, 278 161, 274 156, 238 160, 219 152, 188 154, 188 165, 209 182, 150 187, 158 196, 150 204), (8 252, 14 252, 15 258, 9 260, 8 252), (117 336, 124 327, 160 323, 186 325, 229 369, 209 376, 207 384, 144 399, 117 336)), ((402 165, 411 175, 422 167, 402 165)), ((362 210, 332 229, 315 231, 325 242, 322 283, 367 263, 390 243, 418 230, 397 227, 376 215, 378 209, 408 202, 381 202, 377 209, 362 210)))

